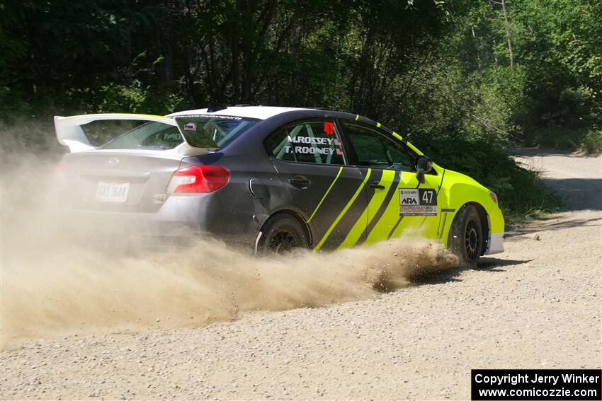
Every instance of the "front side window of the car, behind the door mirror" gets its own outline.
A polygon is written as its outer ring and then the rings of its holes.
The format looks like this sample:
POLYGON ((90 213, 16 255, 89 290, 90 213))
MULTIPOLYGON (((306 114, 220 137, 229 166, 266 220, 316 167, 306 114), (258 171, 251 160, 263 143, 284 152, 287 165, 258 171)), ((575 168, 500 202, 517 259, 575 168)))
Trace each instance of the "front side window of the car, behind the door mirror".
POLYGON ((359 165, 393 170, 415 169, 414 156, 393 139, 353 122, 343 122, 343 129, 356 151, 359 165))

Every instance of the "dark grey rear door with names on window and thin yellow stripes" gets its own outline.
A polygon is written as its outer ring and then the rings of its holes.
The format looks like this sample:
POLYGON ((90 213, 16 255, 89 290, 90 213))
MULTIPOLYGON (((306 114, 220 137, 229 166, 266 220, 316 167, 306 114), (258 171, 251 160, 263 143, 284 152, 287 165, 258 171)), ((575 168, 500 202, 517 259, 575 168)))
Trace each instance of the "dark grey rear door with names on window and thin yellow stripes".
POLYGON ((292 122, 268 136, 266 149, 287 190, 280 204, 303 216, 314 250, 337 248, 351 228, 365 229, 368 178, 348 165, 334 119, 292 122))

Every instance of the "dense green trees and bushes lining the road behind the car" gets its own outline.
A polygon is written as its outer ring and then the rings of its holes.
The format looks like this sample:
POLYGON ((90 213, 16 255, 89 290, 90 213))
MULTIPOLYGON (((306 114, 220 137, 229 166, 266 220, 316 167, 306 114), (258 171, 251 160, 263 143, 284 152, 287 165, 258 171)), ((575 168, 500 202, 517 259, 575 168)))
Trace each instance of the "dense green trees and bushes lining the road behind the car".
POLYGON ((558 198, 508 146, 602 150, 599 0, 82 0, 0 4, 0 118, 329 107, 499 194, 558 198))

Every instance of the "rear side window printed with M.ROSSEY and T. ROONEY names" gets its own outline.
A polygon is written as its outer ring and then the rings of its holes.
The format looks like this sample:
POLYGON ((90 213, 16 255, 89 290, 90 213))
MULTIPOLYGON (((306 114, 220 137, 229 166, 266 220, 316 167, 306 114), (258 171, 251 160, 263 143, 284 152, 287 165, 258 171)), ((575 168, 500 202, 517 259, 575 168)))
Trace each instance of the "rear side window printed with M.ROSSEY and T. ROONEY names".
POLYGON ((285 161, 346 164, 343 144, 334 120, 290 124, 268 136, 271 156, 285 161))

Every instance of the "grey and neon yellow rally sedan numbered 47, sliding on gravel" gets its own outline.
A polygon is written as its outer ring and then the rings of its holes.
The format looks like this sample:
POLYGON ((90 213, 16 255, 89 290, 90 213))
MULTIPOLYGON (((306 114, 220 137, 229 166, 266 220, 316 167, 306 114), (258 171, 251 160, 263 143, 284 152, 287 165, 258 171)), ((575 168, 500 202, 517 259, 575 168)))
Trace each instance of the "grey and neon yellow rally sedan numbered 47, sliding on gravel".
POLYGON ((494 192, 360 115, 212 106, 55 117, 55 128, 70 150, 59 170, 72 214, 137 236, 211 236, 256 252, 420 236, 467 265, 503 251, 494 192), (107 120, 136 125, 95 144, 89 124, 107 120))

